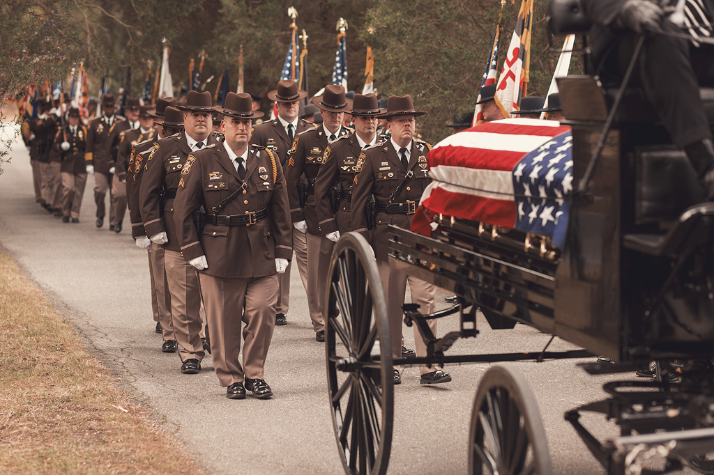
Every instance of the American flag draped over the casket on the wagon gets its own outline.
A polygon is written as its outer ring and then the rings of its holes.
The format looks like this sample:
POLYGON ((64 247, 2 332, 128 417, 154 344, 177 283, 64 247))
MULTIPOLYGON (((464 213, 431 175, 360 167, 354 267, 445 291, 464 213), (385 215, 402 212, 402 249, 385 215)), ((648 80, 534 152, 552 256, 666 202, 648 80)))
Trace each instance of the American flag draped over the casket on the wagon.
MULTIPOLYGON (((568 230, 573 137, 555 121, 517 118, 483 123, 438 143, 427 156, 433 182, 417 215, 454 216, 550 236, 568 230)), ((428 219, 412 221, 424 233, 428 219)))

